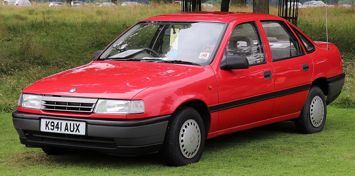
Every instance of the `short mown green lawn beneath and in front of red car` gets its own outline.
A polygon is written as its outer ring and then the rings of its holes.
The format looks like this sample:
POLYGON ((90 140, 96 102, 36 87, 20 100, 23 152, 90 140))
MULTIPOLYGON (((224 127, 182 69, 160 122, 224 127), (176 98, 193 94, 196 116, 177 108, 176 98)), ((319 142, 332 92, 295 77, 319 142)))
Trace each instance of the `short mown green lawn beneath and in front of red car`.
POLYGON ((82 151, 48 156, 20 143, 11 114, 0 114, 0 175, 355 175, 355 109, 328 106, 316 134, 293 122, 208 139, 200 162, 167 167, 160 155, 111 156, 82 151))

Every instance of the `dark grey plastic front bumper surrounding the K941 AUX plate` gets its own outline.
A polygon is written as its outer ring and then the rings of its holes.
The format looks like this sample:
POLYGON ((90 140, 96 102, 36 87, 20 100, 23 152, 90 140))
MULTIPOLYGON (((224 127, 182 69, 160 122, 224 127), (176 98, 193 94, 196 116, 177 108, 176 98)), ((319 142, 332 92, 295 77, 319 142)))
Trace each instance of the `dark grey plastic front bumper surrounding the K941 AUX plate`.
POLYGON ((26 147, 89 149, 98 152, 135 156, 158 152, 162 149, 166 127, 171 115, 149 119, 88 119, 12 112, 13 126, 26 147), (40 120, 69 120, 86 122, 84 136, 40 131, 40 120))

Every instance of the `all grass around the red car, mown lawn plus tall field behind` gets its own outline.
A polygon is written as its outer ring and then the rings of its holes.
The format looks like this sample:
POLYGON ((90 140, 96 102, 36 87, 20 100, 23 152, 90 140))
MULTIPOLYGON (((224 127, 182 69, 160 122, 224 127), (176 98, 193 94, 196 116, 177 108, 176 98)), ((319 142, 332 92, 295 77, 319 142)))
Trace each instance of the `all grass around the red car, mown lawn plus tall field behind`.
MULTIPOLYGON (((179 11, 162 4, 135 9, 0 6, 0 175, 354 175, 354 8, 328 9, 329 42, 339 47, 347 76, 342 94, 328 106, 321 133, 297 134, 293 122, 279 122, 209 139, 199 163, 172 168, 159 154, 47 156, 20 144, 10 112, 23 88, 90 62, 94 51, 139 20, 179 11)), ((277 9, 271 13, 277 15, 277 9)), ((313 40, 325 41, 324 9, 300 9, 298 27, 313 40)))

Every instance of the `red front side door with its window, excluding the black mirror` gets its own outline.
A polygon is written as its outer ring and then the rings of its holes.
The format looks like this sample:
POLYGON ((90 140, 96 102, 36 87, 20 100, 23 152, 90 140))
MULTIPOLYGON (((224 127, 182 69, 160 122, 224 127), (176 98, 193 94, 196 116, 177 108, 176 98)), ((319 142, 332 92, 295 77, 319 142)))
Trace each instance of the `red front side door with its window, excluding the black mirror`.
MULTIPOLYGON (((247 57, 249 68, 216 71, 219 92, 217 131, 269 119, 274 98, 274 76, 264 53, 265 43, 255 17, 239 18, 230 23, 225 37, 228 55, 247 57), (228 31, 230 34, 228 34, 228 31)), ((264 39, 265 40, 265 39, 264 39)), ((222 132, 223 133, 223 132, 222 132)))

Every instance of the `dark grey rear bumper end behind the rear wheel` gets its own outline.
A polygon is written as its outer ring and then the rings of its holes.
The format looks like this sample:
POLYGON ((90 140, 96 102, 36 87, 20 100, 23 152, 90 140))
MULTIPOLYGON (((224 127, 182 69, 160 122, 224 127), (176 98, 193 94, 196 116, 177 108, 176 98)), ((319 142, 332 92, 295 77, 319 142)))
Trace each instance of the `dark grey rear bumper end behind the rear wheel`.
POLYGON ((332 103, 335 99, 339 97, 340 93, 342 93, 344 81, 345 81, 345 73, 327 79, 327 84, 328 84, 328 96, 326 99, 327 105, 332 103))

